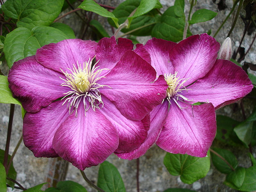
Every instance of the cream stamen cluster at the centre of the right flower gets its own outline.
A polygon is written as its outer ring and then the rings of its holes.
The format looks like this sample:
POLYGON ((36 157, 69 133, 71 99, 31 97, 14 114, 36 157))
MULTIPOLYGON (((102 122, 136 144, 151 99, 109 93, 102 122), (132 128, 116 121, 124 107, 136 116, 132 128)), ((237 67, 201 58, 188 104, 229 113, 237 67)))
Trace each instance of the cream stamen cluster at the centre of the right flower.
POLYGON ((180 109, 182 109, 182 107, 180 107, 180 105, 178 104, 178 100, 180 100, 179 98, 181 98, 182 100, 180 101, 192 101, 189 100, 188 98, 184 97, 182 94, 183 91, 187 91, 191 90, 191 89, 187 89, 184 86, 184 83, 189 79, 189 78, 182 78, 180 79, 180 77, 177 77, 177 73, 175 72, 174 74, 164 74, 164 79, 166 81, 166 83, 168 84, 168 88, 166 90, 166 99, 169 101, 170 104, 171 103, 171 99, 174 100, 174 102, 178 105, 178 107, 180 109))

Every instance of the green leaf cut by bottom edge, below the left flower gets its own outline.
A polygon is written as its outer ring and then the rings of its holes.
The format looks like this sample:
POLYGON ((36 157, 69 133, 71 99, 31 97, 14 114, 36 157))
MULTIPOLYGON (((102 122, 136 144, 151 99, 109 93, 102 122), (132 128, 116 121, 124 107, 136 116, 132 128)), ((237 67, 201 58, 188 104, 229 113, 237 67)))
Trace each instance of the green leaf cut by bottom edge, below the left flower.
POLYGON ((56 188, 47 188, 45 192, 87 192, 87 190, 74 181, 60 181, 57 183, 56 188))

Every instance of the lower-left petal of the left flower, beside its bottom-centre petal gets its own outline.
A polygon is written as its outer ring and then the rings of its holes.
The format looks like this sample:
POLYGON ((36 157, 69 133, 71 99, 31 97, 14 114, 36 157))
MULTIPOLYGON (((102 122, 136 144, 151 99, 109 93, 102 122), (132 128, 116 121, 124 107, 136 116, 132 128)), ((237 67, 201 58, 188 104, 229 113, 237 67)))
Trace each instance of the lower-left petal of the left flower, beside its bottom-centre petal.
POLYGON ((69 116, 63 101, 55 101, 37 113, 26 113, 23 121, 23 140, 35 157, 57 157, 52 148, 56 130, 69 116), (54 118, 53 118, 54 117, 54 118))

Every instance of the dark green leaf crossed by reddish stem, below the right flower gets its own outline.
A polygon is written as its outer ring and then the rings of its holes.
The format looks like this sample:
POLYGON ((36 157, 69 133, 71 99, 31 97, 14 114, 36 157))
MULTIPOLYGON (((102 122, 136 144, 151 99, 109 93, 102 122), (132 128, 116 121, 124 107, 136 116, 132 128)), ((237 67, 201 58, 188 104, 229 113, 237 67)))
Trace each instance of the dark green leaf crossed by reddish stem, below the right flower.
MULTIPOLYGON (((215 152, 217 152, 220 156, 222 156, 234 169, 237 167, 237 159, 236 156, 226 149, 221 148, 213 148, 215 152)), ((221 172, 228 174, 232 172, 233 170, 228 166, 228 164, 223 161, 219 156, 215 155, 211 152, 212 155, 212 163, 216 167, 216 169, 221 172)))

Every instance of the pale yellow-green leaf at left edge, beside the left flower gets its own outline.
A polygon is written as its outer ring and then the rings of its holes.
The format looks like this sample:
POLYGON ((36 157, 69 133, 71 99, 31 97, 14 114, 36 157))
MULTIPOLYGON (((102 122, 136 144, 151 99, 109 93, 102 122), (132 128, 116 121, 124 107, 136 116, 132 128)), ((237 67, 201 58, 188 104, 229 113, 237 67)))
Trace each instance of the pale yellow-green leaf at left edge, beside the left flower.
POLYGON ((12 92, 8 87, 7 76, 0 76, 0 103, 12 103, 21 106, 19 100, 12 97, 12 92))

